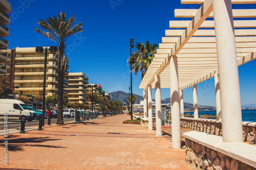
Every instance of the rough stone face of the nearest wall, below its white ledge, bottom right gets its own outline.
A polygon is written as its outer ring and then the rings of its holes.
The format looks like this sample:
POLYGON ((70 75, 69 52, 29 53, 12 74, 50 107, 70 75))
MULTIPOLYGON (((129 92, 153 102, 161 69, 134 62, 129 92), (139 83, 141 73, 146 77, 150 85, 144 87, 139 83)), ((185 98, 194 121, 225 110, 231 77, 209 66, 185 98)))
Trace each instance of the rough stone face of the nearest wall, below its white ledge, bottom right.
POLYGON ((186 138, 186 161, 197 169, 256 169, 186 138))

